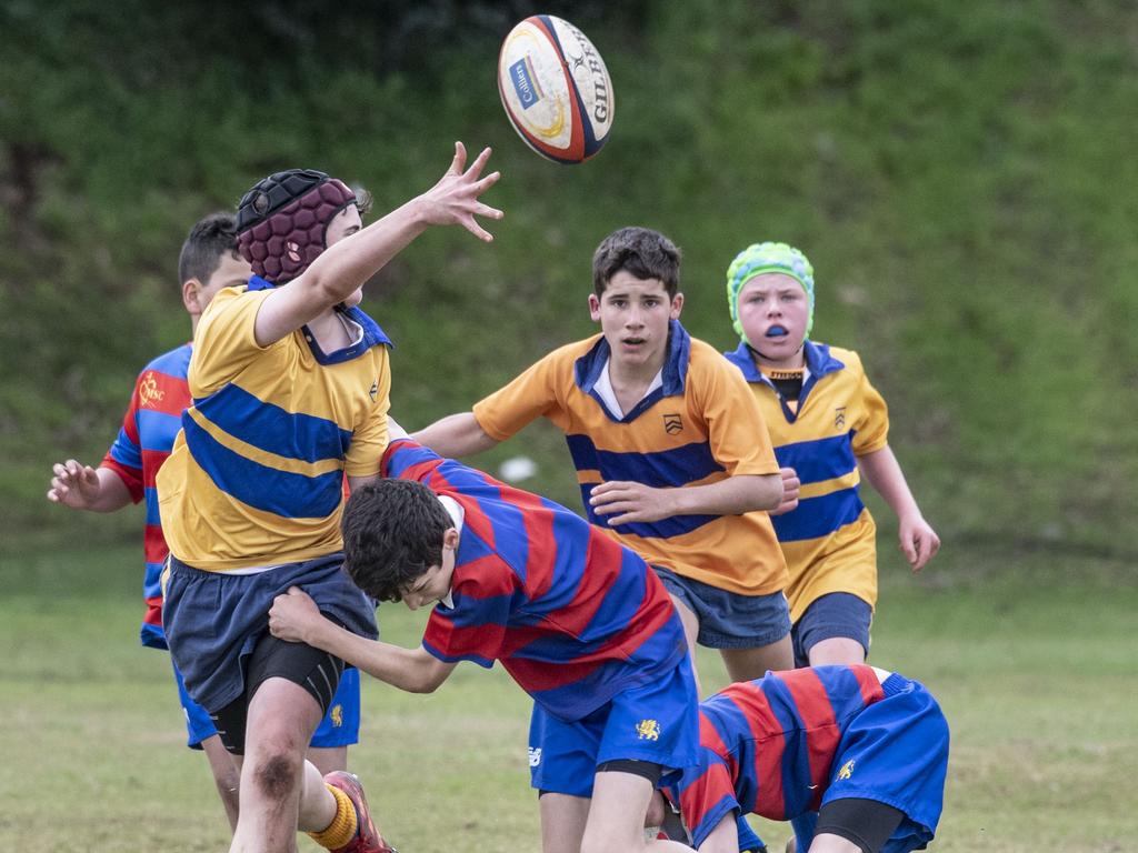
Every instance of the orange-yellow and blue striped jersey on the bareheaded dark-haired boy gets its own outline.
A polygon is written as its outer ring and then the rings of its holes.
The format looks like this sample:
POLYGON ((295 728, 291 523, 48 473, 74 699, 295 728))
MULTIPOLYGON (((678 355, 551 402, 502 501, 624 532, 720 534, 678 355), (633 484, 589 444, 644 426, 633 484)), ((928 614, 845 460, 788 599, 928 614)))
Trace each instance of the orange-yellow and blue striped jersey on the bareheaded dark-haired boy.
POLYGON ((675 515, 611 527, 593 512, 589 492, 601 482, 669 488, 778 471, 747 383, 678 322, 671 323, 660 382, 621 417, 597 390, 609 355, 600 334, 561 347, 478 403, 475 417, 498 441, 549 417, 566 433, 588 520, 650 563, 742 595, 782 590, 785 561, 766 513, 675 515))

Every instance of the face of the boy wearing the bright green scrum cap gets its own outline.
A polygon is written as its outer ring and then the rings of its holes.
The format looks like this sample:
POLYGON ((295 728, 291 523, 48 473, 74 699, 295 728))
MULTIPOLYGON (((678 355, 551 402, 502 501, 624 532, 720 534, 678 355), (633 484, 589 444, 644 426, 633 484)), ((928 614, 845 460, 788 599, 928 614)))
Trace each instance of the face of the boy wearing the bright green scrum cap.
POLYGON ((756 275, 739 291, 743 333, 762 359, 774 364, 801 359, 809 310, 802 285, 783 273, 756 275))

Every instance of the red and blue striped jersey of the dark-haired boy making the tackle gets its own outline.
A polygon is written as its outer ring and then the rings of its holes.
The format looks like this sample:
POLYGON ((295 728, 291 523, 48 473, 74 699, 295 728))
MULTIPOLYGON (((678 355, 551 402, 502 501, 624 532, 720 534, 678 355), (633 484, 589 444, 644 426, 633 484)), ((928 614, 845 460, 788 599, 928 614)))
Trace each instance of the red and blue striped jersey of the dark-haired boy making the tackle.
POLYGON ((439 660, 498 660, 549 713, 577 720, 687 654, 655 573, 575 513, 410 440, 391 444, 384 474, 418 480, 464 513, 454 606, 437 605, 423 635, 439 660))

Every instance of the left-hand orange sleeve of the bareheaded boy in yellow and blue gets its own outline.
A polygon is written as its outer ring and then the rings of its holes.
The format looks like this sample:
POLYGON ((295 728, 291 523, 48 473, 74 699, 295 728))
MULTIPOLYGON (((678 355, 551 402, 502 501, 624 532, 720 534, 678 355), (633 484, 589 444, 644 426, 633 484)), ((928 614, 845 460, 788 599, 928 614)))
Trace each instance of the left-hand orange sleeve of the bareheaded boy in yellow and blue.
POLYGON ((549 417, 564 429, 561 389, 572 382, 566 372, 566 348, 550 353, 494 394, 475 404, 478 425, 495 441, 504 441, 530 421, 549 417))

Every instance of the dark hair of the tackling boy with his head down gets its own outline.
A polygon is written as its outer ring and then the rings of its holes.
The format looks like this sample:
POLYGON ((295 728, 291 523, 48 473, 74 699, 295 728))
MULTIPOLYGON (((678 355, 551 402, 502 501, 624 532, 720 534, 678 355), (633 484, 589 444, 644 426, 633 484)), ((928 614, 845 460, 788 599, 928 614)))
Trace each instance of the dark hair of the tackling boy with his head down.
POLYGON ((341 527, 344 568, 355 585, 398 602, 409 583, 443 564, 443 536, 454 521, 422 483, 384 479, 352 492, 341 527))

